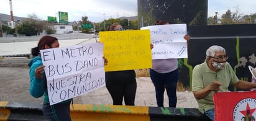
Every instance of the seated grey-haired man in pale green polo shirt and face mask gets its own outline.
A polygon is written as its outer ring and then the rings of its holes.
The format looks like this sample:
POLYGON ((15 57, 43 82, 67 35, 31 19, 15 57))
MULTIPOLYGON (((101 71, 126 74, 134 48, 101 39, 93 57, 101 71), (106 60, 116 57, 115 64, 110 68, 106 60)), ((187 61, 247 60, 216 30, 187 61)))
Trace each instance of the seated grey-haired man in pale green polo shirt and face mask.
POLYGON ((237 78, 223 47, 214 45, 206 50, 206 60, 193 69, 192 91, 201 113, 214 120, 214 92, 227 92, 229 84, 239 89, 256 87, 237 78))

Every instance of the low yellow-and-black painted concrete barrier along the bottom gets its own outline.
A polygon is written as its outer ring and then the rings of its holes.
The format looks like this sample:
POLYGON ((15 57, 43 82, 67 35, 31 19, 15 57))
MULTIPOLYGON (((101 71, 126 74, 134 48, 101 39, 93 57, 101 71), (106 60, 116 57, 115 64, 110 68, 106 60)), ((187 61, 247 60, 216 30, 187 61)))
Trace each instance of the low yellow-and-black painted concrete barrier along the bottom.
MULTIPOLYGON (((125 105, 70 105, 72 120, 208 121, 198 109, 125 105)), ((47 120, 41 104, 0 101, 0 120, 47 120)))

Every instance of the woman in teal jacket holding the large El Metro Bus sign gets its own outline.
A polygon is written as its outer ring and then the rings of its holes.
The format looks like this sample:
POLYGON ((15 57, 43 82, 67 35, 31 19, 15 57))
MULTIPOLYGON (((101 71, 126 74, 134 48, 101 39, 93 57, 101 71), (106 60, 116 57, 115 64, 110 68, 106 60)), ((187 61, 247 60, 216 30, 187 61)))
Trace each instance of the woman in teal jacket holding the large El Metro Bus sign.
POLYGON ((50 105, 48 92, 47 92, 47 79, 45 77, 40 50, 48 48, 58 48, 60 45, 56 37, 45 35, 40 38, 37 47, 31 49, 31 53, 35 58, 29 62, 30 67, 30 94, 39 98, 43 96, 43 115, 49 120, 71 120, 70 117, 70 103, 72 99, 68 99, 58 104, 50 105))

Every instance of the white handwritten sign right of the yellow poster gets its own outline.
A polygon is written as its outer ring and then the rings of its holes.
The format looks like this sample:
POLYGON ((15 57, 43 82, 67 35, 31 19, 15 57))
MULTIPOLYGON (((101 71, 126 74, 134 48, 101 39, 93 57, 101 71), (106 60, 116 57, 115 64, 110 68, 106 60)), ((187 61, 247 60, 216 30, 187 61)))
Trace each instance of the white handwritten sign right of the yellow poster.
POLYGON ((152 59, 188 58, 184 39, 186 24, 152 25, 140 29, 150 30, 152 59))

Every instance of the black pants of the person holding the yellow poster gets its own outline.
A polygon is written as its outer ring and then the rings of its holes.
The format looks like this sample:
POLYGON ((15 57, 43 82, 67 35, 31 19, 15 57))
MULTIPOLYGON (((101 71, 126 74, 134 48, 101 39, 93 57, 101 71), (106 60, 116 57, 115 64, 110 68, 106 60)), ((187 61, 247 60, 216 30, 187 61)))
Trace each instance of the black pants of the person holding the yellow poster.
POLYGON ((137 83, 134 70, 106 72, 106 87, 113 105, 134 105, 137 83))

